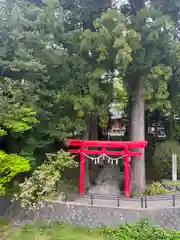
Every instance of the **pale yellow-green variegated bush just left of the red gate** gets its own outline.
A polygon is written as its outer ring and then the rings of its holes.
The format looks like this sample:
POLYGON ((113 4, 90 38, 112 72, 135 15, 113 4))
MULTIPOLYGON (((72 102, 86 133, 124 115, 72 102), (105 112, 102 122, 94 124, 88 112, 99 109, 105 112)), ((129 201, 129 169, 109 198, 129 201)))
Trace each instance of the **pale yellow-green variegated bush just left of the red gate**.
POLYGON ((48 153, 46 156, 45 162, 19 185, 19 192, 14 194, 14 200, 20 200, 22 207, 36 210, 44 206, 44 200, 56 192, 64 169, 78 166, 74 157, 65 151, 48 153))

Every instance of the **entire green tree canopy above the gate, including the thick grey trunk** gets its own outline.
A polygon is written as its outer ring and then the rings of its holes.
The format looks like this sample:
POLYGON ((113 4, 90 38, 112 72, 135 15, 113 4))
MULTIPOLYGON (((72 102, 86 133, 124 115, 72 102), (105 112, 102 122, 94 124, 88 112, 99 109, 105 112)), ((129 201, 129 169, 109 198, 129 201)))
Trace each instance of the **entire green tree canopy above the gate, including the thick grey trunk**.
MULTIPOLYGON (((145 139, 145 105, 150 111, 179 113, 179 4, 0 3, 5 153, 36 168, 47 151, 57 150, 57 141, 80 137, 91 116, 106 127, 108 106, 115 99, 130 108, 132 141, 145 139)), ((144 154, 140 158, 132 160, 137 192, 145 189, 144 154)))

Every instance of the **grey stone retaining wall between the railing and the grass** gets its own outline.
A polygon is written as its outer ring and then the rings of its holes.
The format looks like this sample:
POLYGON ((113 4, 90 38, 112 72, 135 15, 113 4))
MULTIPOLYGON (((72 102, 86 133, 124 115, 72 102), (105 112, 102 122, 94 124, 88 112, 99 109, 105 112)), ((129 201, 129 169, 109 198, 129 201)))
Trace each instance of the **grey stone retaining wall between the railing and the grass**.
POLYGON ((9 220, 13 220, 14 224, 54 221, 85 227, 117 227, 120 224, 147 219, 154 225, 180 229, 180 208, 178 207, 149 210, 122 209, 53 202, 47 203, 39 211, 25 212, 25 210, 20 209, 18 204, 15 204, 9 210, 7 217, 9 220))

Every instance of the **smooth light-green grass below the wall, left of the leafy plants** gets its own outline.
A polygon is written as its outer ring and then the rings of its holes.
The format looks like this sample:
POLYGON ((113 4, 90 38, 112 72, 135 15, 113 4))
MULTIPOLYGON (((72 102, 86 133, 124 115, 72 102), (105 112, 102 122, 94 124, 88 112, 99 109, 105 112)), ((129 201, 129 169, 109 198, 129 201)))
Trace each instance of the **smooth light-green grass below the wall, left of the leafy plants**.
POLYGON ((103 240, 100 230, 75 228, 64 224, 27 225, 0 232, 0 240, 103 240))

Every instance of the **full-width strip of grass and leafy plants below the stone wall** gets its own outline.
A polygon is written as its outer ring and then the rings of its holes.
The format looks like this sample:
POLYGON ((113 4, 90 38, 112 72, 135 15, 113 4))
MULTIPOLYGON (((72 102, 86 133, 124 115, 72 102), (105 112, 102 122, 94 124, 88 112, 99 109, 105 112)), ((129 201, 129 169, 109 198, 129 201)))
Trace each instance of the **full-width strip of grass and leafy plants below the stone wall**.
POLYGON ((65 224, 38 224, 0 228, 0 240, 179 240, 180 232, 153 226, 146 220, 119 228, 86 229, 65 224), (104 237, 103 237, 104 236, 104 237))

